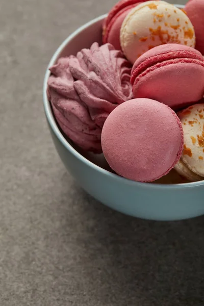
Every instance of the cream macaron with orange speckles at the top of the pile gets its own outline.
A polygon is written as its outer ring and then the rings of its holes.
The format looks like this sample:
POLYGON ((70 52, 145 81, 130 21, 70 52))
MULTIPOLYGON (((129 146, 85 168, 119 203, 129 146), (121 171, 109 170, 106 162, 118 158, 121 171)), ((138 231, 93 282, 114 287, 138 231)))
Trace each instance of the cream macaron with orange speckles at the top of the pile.
POLYGON ((120 29, 120 44, 134 64, 147 50, 166 43, 195 47, 195 32, 188 16, 164 1, 147 1, 133 8, 120 29))

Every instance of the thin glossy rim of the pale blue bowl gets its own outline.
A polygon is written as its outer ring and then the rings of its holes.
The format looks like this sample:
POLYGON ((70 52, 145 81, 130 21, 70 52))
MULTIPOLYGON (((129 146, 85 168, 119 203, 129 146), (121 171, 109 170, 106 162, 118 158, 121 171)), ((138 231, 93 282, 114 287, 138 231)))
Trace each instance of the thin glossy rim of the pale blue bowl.
MULTIPOLYGON (((183 5, 176 5, 179 8, 184 8, 183 5)), ((75 150, 69 143, 68 141, 66 141, 66 139, 63 137, 63 135, 61 134, 57 123, 54 119, 53 116, 53 112, 52 109, 50 107, 50 103, 49 100, 47 99, 47 93, 46 93, 46 89, 47 89, 47 80, 49 78, 50 75, 50 71, 48 70, 49 67, 53 66, 56 63, 56 60, 59 56, 59 54, 62 52, 62 50, 64 49, 64 47, 78 34, 80 34, 82 31, 84 31, 86 28, 90 27, 92 24, 103 20, 104 18, 106 18, 107 14, 101 15, 99 17, 96 17, 92 20, 90 20, 89 22, 83 24, 80 28, 78 28, 77 30, 75 30, 72 34, 70 34, 63 42, 62 44, 57 48, 56 52, 54 53, 54 55, 52 56, 51 60, 49 61, 49 64, 46 68, 46 72, 45 72, 45 77, 44 77, 44 82, 43 82, 43 106, 44 106, 44 111, 45 111, 45 115, 46 118, 48 120, 48 123, 50 125, 50 127, 52 127, 53 132, 55 133, 55 135, 57 136, 58 140, 62 143, 62 145, 72 154, 74 155, 78 160, 80 160, 81 162, 85 163, 88 167, 91 167, 93 170, 99 171, 101 174, 105 175, 105 176, 109 176, 110 179, 112 180, 116 180, 120 183, 123 184, 127 184, 127 185, 131 185, 133 187, 136 188, 147 188, 147 189, 154 189, 154 190, 167 190, 167 189, 171 189, 171 190, 175 190, 175 189, 183 189, 183 188, 193 188, 193 187, 198 187, 198 186, 204 186, 204 177, 202 181, 198 181, 198 182, 190 182, 190 183, 180 183, 180 184, 150 184, 150 183, 141 183, 141 182, 136 182, 136 181, 131 181, 129 179, 125 179, 122 176, 119 176, 115 173, 112 173, 108 170, 105 170, 97 165, 95 165, 94 163, 92 163, 91 161, 87 160, 85 157, 83 157, 77 150, 75 150)))

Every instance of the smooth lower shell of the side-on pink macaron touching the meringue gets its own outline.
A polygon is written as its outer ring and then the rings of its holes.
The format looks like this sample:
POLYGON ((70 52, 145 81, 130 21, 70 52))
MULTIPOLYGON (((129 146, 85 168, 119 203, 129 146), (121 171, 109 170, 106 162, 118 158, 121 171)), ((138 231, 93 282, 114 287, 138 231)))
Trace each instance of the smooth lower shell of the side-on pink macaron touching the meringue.
POLYGON ((174 59, 153 65, 139 74, 133 93, 135 98, 147 97, 181 109, 202 98, 203 80, 204 62, 174 59))

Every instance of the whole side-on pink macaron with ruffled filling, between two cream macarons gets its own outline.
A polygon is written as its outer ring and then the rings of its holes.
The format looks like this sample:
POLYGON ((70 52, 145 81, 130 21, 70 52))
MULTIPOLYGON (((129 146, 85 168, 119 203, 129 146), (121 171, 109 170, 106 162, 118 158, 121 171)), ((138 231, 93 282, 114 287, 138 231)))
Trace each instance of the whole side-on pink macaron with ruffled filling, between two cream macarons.
POLYGON ((152 48, 137 59, 131 74, 135 98, 155 99, 172 109, 192 105, 204 95, 204 59, 189 46, 152 48))

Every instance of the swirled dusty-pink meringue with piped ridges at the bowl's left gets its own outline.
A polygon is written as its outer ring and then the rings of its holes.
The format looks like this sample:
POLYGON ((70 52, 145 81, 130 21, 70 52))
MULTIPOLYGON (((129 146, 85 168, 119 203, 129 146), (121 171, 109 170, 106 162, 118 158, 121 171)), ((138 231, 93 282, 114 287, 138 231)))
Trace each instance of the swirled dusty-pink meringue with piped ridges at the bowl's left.
POLYGON ((100 153, 108 115, 133 97, 131 64, 107 43, 61 58, 50 68, 47 94, 62 131, 85 150, 100 153))

